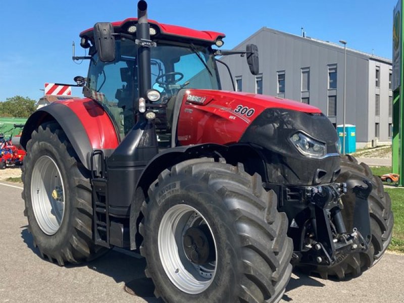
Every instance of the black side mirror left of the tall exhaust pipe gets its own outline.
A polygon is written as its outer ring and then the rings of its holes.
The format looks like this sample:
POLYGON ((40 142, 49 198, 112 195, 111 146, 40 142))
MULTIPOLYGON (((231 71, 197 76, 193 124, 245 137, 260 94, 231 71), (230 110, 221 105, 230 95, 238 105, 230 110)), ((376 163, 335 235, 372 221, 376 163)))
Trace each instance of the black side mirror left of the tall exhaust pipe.
POLYGON ((114 27, 109 22, 98 22, 94 25, 94 42, 98 58, 102 62, 115 60, 114 27))

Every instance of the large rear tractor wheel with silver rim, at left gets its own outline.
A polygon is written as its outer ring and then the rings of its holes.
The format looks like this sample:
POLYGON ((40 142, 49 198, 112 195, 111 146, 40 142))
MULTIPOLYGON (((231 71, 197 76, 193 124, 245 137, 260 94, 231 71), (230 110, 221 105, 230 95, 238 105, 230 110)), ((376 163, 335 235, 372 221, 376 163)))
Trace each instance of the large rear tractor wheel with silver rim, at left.
POLYGON ((22 171, 24 215, 41 257, 63 266, 102 255, 92 240, 90 173, 57 123, 32 133, 22 171))

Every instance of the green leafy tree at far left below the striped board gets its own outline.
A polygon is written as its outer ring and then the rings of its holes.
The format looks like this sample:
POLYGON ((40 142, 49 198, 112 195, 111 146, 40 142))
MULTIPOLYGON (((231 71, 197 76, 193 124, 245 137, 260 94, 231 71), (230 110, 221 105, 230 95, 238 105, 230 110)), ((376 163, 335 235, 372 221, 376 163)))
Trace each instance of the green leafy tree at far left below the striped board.
POLYGON ((29 97, 14 96, 0 102, 0 117, 28 118, 35 112, 35 100, 29 97))

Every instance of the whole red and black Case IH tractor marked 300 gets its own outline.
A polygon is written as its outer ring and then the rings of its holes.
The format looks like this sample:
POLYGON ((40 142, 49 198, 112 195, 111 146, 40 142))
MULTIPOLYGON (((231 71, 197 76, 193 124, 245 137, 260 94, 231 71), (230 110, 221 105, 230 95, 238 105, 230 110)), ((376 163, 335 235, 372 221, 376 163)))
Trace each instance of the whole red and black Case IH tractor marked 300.
POLYGON ((358 276, 391 240, 391 201, 369 167, 338 153, 315 107, 221 90, 224 34, 138 17, 96 23, 85 98, 25 124, 29 231, 63 266, 139 249, 170 303, 278 302, 292 265, 358 276))

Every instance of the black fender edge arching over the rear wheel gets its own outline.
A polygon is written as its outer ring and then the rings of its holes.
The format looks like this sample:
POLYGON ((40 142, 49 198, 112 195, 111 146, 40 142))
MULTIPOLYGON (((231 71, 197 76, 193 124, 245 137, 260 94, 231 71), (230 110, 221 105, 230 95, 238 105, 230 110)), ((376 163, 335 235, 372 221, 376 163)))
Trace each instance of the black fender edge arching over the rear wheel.
POLYGON ((92 146, 87 133, 76 114, 67 106, 60 103, 53 103, 41 108, 29 117, 23 129, 20 143, 25 149, 27 142, 31 139, 32 132, 46 121, 56 120, 66 133, 70 143, 73 145, 81 163, 85 168, 90 169, 88 155, 92 146))

